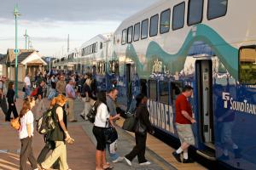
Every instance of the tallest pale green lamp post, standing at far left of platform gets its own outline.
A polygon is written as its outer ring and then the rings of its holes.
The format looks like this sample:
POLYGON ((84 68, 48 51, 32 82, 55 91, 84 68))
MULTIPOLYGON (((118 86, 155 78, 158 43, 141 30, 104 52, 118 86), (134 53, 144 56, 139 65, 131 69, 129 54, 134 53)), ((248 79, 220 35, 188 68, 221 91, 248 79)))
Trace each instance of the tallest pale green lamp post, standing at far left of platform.
POLYGON ((18 22, 17 18, 20 16, 20 13, 18 11, 18 6, 15 6, 14 10, 14 15, 15 15, 15 96, 18 98, 18 54, 19 54, 19 49, 18 49, 18 22))

